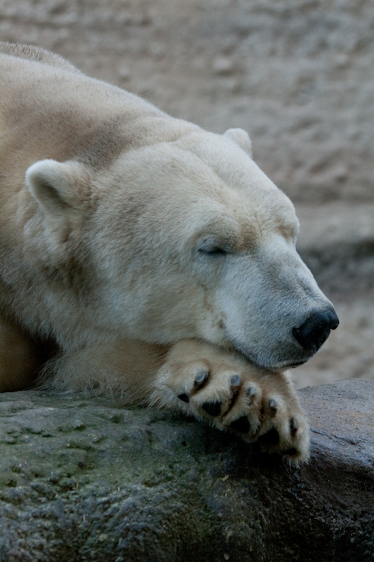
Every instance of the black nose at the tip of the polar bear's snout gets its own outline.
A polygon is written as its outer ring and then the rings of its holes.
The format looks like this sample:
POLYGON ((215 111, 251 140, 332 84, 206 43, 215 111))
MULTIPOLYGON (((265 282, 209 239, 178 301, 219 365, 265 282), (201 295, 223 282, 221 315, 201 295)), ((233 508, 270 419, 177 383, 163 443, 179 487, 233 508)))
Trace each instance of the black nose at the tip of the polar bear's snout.
POLYGON ((293 328, 293 337, 300 346, 308 351, 314 351, 321 347, 330 335, 330 329, 339 325, 339 318, 333 308, 323 312, 312 312, 306 322, 298 328, 293 328))

